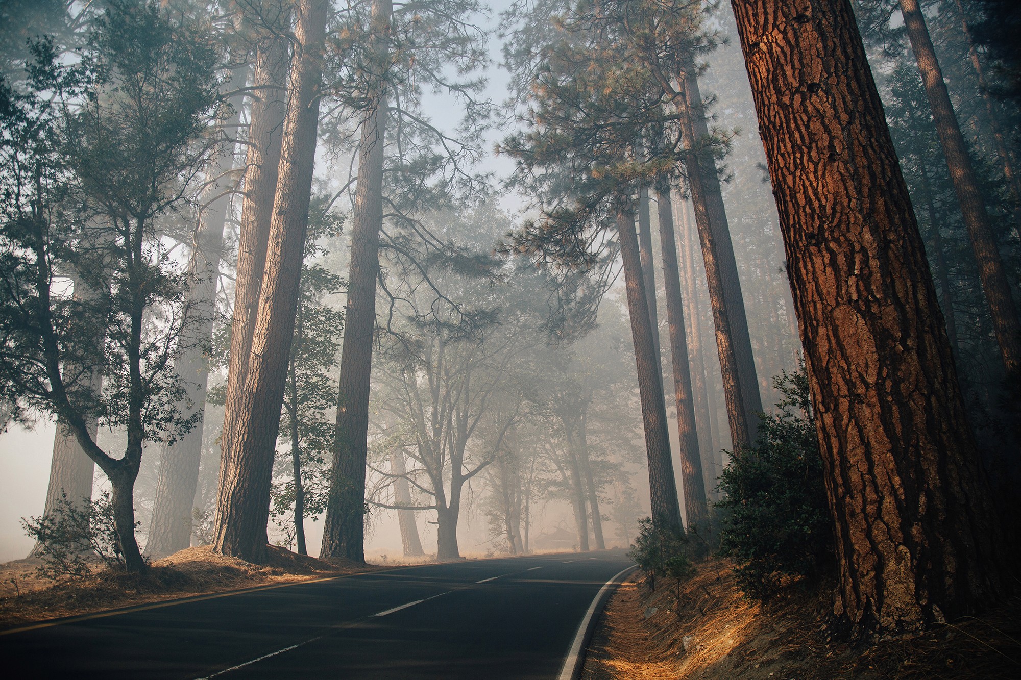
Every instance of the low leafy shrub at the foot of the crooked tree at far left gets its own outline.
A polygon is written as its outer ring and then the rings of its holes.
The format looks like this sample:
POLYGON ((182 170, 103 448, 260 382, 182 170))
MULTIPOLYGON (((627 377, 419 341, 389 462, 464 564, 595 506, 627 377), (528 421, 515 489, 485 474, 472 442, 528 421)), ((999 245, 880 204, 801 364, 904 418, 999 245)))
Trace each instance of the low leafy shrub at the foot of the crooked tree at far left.
POLYGON ((107 567, 124 568, 108 491, 96 500, 83 498, 80 503, 70 502, 67 494, 62 494, 52 513, 22 518, 21 526, 36 540, 35 553, 43 561, 38 572, 43 577, 88 576, 97 558, 107 567))

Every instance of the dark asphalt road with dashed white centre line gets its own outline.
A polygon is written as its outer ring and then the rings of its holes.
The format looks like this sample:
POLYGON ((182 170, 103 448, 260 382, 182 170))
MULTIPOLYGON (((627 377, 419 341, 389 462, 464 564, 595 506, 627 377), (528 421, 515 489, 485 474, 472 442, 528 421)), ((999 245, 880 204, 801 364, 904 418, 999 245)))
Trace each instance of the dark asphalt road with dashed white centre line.
POLYGON ((6 678, 555 679, 623 551, 424 565, 0 632, 6 678), (13 675, 8 675, 11 671, 13 675))

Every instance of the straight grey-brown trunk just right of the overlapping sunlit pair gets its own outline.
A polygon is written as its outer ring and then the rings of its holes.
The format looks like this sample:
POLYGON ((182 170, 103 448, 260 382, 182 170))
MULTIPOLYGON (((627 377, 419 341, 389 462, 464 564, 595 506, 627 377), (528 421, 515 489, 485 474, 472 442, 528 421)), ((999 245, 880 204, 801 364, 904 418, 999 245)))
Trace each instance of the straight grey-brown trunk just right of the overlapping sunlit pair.
MULTIPOLYGON (((374 0, 373 37, 376 52, 389 51, 392 0, 374 0)), ((351 265, 347 277, 344 343, 340 354, 337 438, 330 475, 324 557, 366 561, 364 495, 369 437, 369 387, 376 331, 376 279, 379 276, 380 229, 383 227, 383 150, 386 138, 387 95, 379 83, 374 107, 361 120, 358 184, 351 218, 351 265)))

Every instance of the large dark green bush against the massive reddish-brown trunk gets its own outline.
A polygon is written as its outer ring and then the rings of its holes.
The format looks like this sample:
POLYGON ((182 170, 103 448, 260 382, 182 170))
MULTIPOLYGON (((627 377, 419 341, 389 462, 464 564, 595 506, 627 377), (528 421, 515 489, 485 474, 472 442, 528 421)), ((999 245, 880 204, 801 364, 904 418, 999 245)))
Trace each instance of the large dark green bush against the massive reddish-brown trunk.
POLYGON ((832 526, 804 367, 773 379, 777 412, 760 416, 750 450, 734 451, 720 489, 721 552, 745 594, 767 599, 783 577, 815 580, 831 562, 832 526))

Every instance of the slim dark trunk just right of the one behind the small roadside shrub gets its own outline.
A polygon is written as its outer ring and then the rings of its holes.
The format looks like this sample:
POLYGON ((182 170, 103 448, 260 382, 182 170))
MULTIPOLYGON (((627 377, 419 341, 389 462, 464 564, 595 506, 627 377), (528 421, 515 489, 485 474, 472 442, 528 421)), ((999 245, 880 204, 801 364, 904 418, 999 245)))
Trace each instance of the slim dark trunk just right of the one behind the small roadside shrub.
POLYGON ((670 205, 670 187, 657 193, 660 212, 660 247, 663 250, 663 281, 666 287, 667 321, 670 325, 670 356, 674 367, 674 395, 677 404, 677 433, 680 439, 681 483, 684 486, 684 514, 688 529, 703 538, 709 530, 709 505, 698 450, 691 370, 684 330, 684 304, 681 298, 681 275, 677 268, 677 242, 674 239, 674 212, 670 205))

